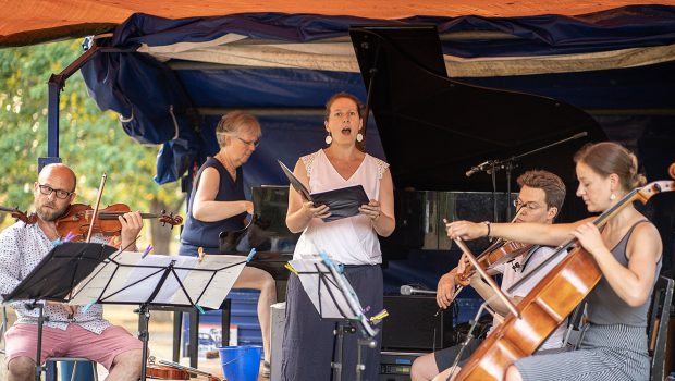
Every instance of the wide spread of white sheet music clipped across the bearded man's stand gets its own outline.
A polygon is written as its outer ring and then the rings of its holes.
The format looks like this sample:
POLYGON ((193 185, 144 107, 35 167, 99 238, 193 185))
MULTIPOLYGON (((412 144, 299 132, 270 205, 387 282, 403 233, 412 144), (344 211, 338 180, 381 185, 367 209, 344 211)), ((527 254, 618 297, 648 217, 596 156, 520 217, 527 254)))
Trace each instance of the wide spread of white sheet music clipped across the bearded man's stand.
POLYGON ((191 305, 192 299, 201 307, 219 308, 246 266, 245 259, 243 256, 207 255, 199 262, 196 257, 149 255, 142 258, 140 253, 123 251, 114 258, 116 263, 108 260, 99 265, 91 275, 77 286, 82 290, 70 304, 87 305, 101 300, 124 304, 151 302, 191 305), (150 300, 162 280, 163 268, 171 262, 175 274, 169 273, 157 295, 150 300), (228 266, 232 267, 214 272, 228 266), (189 299, 181 288, 179 280, 188 293, 189 299))

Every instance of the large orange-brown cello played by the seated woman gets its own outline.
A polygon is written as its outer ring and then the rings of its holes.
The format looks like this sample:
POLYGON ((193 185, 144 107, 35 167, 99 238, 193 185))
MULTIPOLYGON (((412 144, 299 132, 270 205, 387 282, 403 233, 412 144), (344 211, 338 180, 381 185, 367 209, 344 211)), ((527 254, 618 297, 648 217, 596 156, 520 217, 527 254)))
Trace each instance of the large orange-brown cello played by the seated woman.
MULTIPOLYGON (((636 188, 596 218, 593 224, 600 229, 634 200, 647 204, 655 194, 671 190, 675 190, 674 181, 656 181, 636 188)), ((602 271, 592 255, 577 245, 576 238, 563 243, 541 267, 570 248, 518 304, 517 314, 510 314, 474 352, 456 380, 502 380, 511 365, 532 355, 593 290, 602 271)))

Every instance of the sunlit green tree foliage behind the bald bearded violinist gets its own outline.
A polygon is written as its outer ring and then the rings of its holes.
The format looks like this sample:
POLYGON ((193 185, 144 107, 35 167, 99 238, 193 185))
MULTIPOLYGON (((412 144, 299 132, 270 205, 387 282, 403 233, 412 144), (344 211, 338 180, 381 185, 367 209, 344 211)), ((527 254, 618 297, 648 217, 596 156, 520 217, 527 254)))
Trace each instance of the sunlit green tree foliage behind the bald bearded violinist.
MULTIPOLYGON (((37 159, 47 156, 47 81, 81 53, 77 40, 0 49, 0 205, 22 210, 30 206, 37 159)), ((101 112, 79 73, 68 79, 59 109, 59 153, 78 175, 76 202, 93 205, 101 174, 107 173, 102 207, 124 202, 149 212, 157 207, 180 209, 184 197, 179 185, 152 181, 158 147, 136 144, 116 114, 101 112)), ((167 253, 170 237, 158 229, 152 224, 145 231, 151 231, 152 244, 167 253)))

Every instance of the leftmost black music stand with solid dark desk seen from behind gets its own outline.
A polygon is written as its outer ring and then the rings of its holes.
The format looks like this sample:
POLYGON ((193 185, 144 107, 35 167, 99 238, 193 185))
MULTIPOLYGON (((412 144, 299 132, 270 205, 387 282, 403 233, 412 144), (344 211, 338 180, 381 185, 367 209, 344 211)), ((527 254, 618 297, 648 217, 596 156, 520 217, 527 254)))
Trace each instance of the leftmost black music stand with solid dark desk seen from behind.
POLYGON ((42 325, 47 320, 42 315, 45 306, 39 300, 70 302, 73 287, 115 251, 114 247, 103 244, 63 243, 57 245, 11 293, 2 295, 5 303, 33 300, 27 303, 26 307, 39 310, 35 361, 36 381, 40 380, 44 369, 40 352, 42 325))

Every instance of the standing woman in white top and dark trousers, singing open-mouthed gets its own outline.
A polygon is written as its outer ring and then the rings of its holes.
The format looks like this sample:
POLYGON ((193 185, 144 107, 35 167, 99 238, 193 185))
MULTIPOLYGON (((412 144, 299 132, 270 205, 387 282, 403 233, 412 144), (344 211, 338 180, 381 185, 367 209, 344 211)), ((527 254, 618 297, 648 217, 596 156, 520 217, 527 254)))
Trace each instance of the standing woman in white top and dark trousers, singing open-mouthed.
MULTIPOLYGON (((356 291, 366 315, 382 309, 382 253, 378 235, 389 236, 395 226, 392 177, 389 164, 364 152, 364 120, 360 102, 346 93, 334 95, 326 103, 327 148, 302 157, 295 175, 311 193, 361 185, 370 201, 359 214, 326 222, 331 216, 327 206, 304 201, 291 188, 286 224, 292 232, 303 232, 294 258, 324 251, 345 265, 344 273, 356 291)), ((289 279, 286 325, 283 341, 283 380, 330 380, 333 360, 334 321, 321 320, 296 275, 289 279)), ((343 380, 355 377, 359 336, 346 334, 343 345, 343 380)), ((379 368, 378 347, 364 353, 364 380, 376 380, 379 368)))

